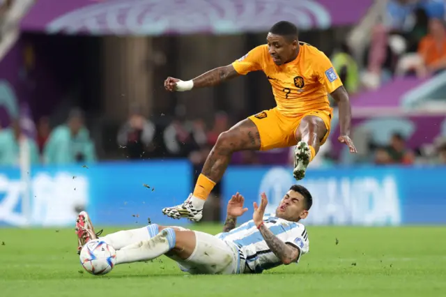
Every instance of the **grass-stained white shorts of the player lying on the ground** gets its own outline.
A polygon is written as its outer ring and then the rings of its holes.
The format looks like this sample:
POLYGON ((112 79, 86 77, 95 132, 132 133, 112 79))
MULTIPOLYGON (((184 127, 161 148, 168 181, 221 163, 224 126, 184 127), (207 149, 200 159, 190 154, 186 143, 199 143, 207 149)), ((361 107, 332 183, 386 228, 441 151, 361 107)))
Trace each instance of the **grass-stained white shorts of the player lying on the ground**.
POLYGON ((213 235, 194 231, 195 250, 187 260, 174 259, 180 269, 191 274, 239 274, 240 252, 236 245, 213 235))

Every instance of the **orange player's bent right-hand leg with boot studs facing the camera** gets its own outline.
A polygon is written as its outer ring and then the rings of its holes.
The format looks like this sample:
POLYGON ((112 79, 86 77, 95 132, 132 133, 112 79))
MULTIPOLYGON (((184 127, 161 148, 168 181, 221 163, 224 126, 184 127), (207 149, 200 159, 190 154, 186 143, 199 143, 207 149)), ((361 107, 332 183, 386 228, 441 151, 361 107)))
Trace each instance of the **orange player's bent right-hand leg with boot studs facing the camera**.
POLYGON ((302 118, 295 138, 298 144, 294 152, 294 178, 300 180, 305 177, 309 162, 318 153, 330 132, 330 112, 312 112, 302 118))

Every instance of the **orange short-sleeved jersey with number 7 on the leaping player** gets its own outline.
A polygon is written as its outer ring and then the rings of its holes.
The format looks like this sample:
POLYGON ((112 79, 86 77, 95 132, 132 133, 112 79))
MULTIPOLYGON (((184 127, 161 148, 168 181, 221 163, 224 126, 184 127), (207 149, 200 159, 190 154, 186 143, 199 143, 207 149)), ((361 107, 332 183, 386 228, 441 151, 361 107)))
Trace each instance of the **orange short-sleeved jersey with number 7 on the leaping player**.
POLYGON ((315 109, 330 109, 328 93, 342 86, 330 59, 316 47, 299 43, 298 57, 277 66, 268 45, 259 45, 232 63, 240 75, 262 70, 272 86, 277 110, 284 116, 298 116, 315 109))

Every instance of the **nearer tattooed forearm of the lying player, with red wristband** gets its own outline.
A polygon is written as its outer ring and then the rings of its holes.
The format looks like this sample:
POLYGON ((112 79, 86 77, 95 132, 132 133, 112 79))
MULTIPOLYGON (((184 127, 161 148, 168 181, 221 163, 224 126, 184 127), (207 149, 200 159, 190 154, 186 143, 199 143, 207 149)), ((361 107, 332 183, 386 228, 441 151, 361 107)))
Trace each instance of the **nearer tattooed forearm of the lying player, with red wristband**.
POLYGON ((260 226, 259 231, 270 250, 282 260, 283 264, 291 264, 299 258, 300 251, 277 238, 267 227, 265 227, 265 224, 260 226))

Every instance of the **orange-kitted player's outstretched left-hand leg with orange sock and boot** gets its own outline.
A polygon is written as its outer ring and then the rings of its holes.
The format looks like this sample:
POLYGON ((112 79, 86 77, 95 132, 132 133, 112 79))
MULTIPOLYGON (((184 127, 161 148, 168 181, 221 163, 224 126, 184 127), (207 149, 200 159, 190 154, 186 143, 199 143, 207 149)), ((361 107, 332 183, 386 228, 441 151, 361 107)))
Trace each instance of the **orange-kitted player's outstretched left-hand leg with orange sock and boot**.
POLYGON ((223 132, 208 155, 194 192, 178 206, 164 208, 162 213, 171 218, 189 218, 199 221, 203 205, 216 183, 220 181, 231 156, 236 151, 259 150, 261 147, 259 130, 251 119, 245 119, 223 132))

